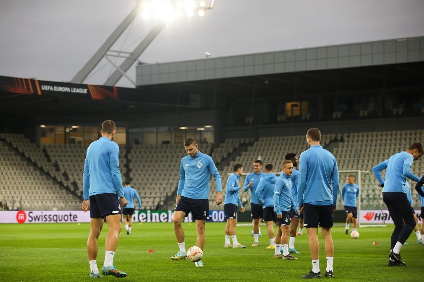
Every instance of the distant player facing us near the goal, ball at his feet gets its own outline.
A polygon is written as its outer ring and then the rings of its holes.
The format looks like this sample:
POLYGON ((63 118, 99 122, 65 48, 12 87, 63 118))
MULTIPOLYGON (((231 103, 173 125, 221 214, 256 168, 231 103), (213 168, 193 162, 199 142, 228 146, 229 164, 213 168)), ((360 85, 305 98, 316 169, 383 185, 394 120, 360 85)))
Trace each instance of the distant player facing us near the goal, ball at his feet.
POLYGON ((359 186, 355 183, 355 176, 352 174, 347 176, 347 183, 341 188, 341 198, 343 199, 344 210, 346 211, 346 230, 345 234, 349 234, 349 224, 352 224, 352 232, 356 231, 356 220, 358 218, 358 210, 356 208, 356 199, 359 196, 359 186))

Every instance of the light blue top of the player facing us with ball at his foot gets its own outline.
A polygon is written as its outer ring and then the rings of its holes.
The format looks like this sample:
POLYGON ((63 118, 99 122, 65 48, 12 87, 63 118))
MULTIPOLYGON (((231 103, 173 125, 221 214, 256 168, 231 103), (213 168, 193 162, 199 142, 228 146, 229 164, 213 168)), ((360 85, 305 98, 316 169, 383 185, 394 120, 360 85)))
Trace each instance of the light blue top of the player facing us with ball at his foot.
POLYGON ((212 158, 198 152, 181 159, 177 194, 191 199, 209 199, 209 176, 213 175, 216 189, 222 192, 222 180, 212 158))

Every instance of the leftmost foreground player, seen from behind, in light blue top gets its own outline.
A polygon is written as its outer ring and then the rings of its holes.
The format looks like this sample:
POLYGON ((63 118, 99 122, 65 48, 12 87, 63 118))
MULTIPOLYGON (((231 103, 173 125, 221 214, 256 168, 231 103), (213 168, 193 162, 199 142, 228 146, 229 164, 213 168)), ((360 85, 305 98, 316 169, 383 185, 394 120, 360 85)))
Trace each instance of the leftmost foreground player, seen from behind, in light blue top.
POLYGON ((83 174, 84 201, 81 210, 84 212, 90 210, 90 234, 87 240, 90 278, 102 278, 97 268, 96 258, 97 239, 105 218, 109 225, 109 231, 105 243, 102 274, 126 277, 125 272, 118 270, 113 265, 113 257, 122 228, 121 208, 125 208, 127 205, 119 169, 119 146, 112 142, 116 135, 115 122, 104 121, 100 134, 102 137, 87 148, 83 174))

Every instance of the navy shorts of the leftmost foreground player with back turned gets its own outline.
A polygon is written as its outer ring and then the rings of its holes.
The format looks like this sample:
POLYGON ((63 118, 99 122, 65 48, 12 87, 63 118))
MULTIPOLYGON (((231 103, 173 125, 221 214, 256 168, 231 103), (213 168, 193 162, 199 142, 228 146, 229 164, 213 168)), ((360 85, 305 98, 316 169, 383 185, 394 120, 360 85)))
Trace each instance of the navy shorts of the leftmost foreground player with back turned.
POLYGON ((122 214, 118 195, 102 193, 90 196, 90 218, 105 218, 114 214, 122 214))

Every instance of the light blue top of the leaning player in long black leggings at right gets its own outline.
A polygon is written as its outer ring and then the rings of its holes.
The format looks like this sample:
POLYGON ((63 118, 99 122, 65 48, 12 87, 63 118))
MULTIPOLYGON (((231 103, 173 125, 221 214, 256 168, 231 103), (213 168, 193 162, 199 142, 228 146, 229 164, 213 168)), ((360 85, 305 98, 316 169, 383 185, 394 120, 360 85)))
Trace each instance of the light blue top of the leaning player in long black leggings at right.
POLYGON ((380 162, 373 167, 372 172, 378 180, 383 184, 383 192, 403 192, 406 193, 405 182, 408 177, 415 182, 419 182, 420 178, 411 172, 411 165, 414 156, 405 151, 394 154, 389 159, 380 162), (386 177, 383 180, 381 171, 386 169, 386 177))

